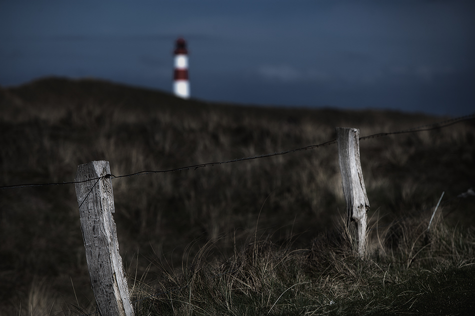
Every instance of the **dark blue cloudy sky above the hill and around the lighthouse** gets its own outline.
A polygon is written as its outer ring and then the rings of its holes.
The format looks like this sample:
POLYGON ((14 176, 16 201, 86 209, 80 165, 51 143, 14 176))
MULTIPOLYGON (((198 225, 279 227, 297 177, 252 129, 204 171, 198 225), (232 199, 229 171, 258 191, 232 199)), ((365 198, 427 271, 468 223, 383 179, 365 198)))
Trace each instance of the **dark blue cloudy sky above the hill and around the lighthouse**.
POLYGON ((286 106, 475 110, 475 1, 0 0, 0 85, 94 77, 286 106))

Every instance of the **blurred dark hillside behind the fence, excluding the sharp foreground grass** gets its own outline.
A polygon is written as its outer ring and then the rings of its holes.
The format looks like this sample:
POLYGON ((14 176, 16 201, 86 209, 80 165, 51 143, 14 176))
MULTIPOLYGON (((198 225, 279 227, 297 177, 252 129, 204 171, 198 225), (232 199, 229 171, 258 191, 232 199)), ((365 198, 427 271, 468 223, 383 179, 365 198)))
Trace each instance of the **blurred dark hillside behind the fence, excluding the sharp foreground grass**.
MULTIPOLYGON (((114 175, 168 170, 323 143, 335 137, 336 126, 365 136, 444 119, 218 104, 93 79, 44 78, 0 88, 0 186, 72 181, 77 165, 92 160, 109 161, 114 175)), ((428 218, 445 191, 447 225, 473 228, 473 201, 457 198, 475 186, 473 120, 360 146, 370 225, 428 218)), ((229 258, 256 229, 276 245, 292 239, 295 247, 308 247, 340 226, 340 181, 334 145, 115 179, 125 270, 148 282, 163 267, 172 273, 186 266, 209 242, 219 252, 207 259, 229 258)), ((55 306, 87 306, 93 297, 73 186, 4 189, 0 208, 1 314, 53 304, 42 297, 55 298, 55 306)))

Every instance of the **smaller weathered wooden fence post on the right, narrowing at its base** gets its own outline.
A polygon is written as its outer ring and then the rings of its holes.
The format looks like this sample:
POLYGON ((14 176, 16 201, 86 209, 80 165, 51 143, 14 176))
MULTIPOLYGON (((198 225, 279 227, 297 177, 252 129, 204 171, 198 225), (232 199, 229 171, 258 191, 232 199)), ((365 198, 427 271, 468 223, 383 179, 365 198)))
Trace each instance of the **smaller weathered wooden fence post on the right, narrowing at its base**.
POLYGON ((359 161, 359 129, 336 127, 336 140, 348 214, 347 225, 349 227, 350 221, 356 222, 358 254, 363 256, 366 251, 366 212, 369 210, 369 201, 359 161))

